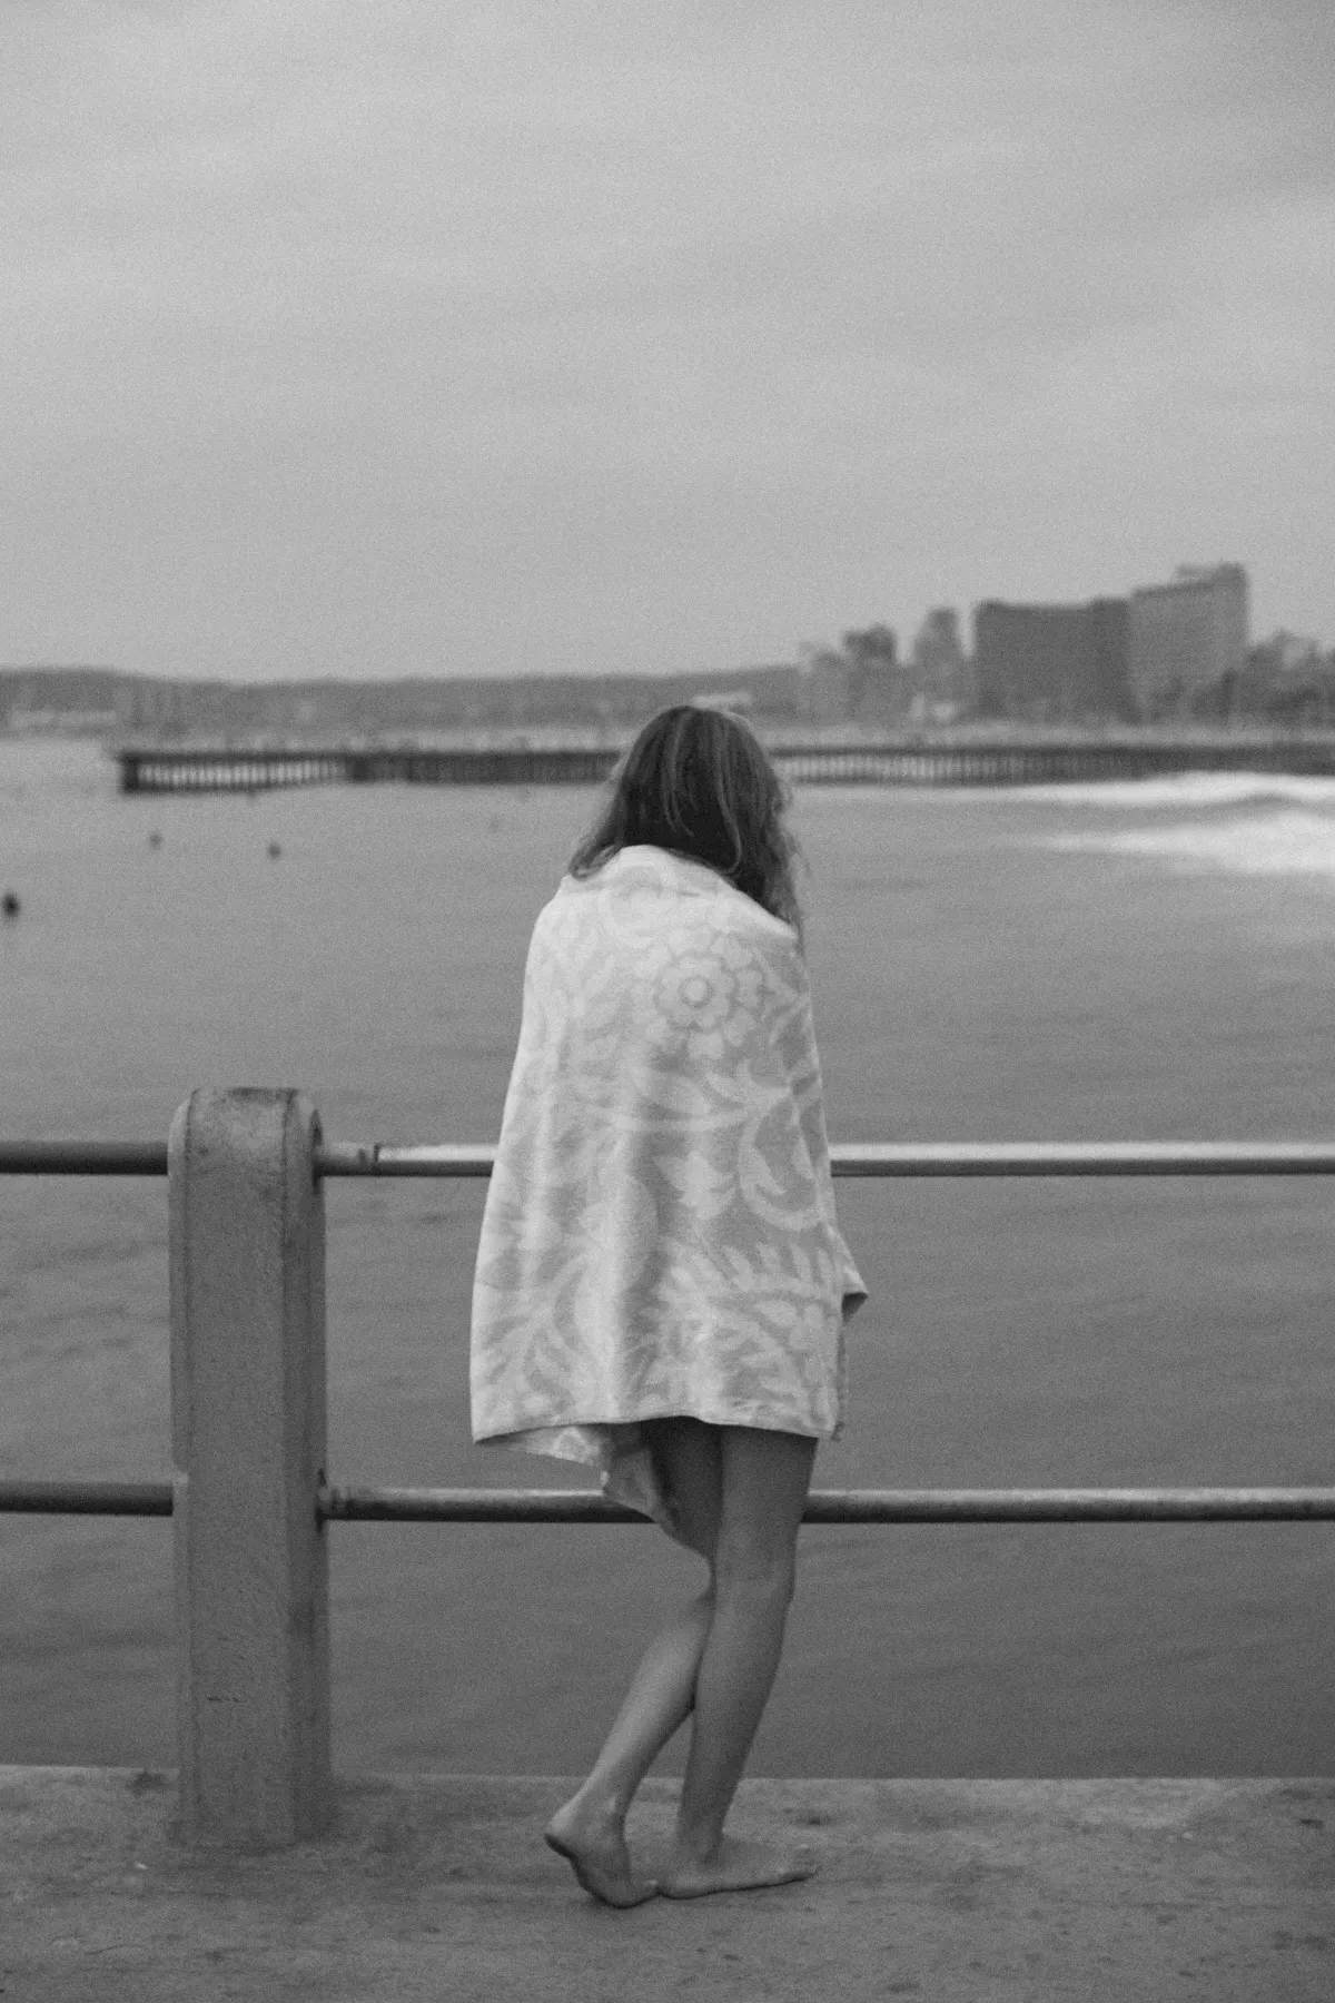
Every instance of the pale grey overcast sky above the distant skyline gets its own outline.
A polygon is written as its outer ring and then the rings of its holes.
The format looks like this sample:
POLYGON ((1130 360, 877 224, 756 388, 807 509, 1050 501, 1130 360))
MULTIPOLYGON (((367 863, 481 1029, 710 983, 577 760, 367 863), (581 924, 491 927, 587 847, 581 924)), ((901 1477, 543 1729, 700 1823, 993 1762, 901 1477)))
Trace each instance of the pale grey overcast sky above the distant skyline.
POLYGON ((0 0, 0 661, 1335 641, 1331 0, 0 0))

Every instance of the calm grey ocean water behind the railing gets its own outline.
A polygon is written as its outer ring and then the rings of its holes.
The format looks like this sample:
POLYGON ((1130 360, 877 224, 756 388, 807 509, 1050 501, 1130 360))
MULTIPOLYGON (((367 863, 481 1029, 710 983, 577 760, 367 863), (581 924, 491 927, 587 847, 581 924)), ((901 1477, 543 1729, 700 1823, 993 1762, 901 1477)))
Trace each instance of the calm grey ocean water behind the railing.
MULTIPOLYGON (((160 1136, 212 1082, 492 1140, 592 809, 118 799, 92 747, 0 743, 4 1132, 160 1136)), ((835 1140, 1335 1134, 1335 783, 809 787, 795 821, 835 1140)), ((1331 1480, 1327 1182, 837 1190, 873 1298, 821 1486, 1331 1480)), ((328 1188, 334 1480, 546 1474, 468 1440, 480 1204, 328 1188)), ((166 1476, 164 1186, 6 1178, 0 1220, 6 1472, 166 1476)), ((582 1769, 695 1588, 650 1528, 330 1546, 342 1771, 582 1769)), ((1333 1570, 1307 1524, 805 1530, 753 1771, 1329 1773, 1333 1570)), ((170 1526, 0 1518, 0 1761, 170 1765, 170 1526)))

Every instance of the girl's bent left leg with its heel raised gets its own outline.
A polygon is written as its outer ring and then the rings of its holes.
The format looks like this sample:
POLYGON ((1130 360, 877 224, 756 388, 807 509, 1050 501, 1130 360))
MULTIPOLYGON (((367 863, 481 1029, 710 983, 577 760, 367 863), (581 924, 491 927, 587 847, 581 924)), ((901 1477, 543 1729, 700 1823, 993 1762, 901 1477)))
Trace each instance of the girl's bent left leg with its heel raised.
MULTIPOLYGON (((656 1428, 658 1474, 689 1542, 709 1556, 719 1526, 719 1432, 699 1420, 656 1428)), ((695 1703, 713 1596, 703 1592, 654 1634, 584 1785, 546 1825, 584 1891, 606 1905, 638 1905, 654 1885, 638 1879, 626 1851, 626 1811, 636 1787, 695 1703)))

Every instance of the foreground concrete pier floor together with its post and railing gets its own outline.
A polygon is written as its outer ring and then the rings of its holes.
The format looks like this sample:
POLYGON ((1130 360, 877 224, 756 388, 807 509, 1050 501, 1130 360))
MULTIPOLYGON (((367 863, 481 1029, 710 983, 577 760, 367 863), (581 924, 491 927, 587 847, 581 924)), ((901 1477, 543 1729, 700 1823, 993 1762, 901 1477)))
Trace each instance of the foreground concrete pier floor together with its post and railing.
MULTIPOLYGON (((656 2003, 699 1983, 775 1999, 1325 2003, 1329 1773, 753 1779, 739 1833, 809 1845, 819 1877, 618 1915, 540 1843, 568 1781, 338 1771, 330 1526, 646 1528, 596 1490, 382 1488, 326 1464, 324 1184, 484 1178, 492 1164, 482 1144, 326 1142, 316 1110, 276 1090, 196 1092, 166 1142, 0 1142, 0 1174, 166 1182, 172 1478, 52 1470, 0 1480, 0 1510, 170 1520, 178 1751, 162 1771, 0 1767, 0 1993, 656 2003)), ((837 1144, 831 1166, 1333 1176, 1335 1142, 837 1144)), ((1321 1538, 1335 1486, 815 1490, 805 1520, 815 1536, 853 1522, 1307 1522, 1321 1538)), ((448 1711, 444 1679, 444 1747, 448 1711)), ((630 1837, 650 1869, 675 1799, 677 1783, 650 1779, 636 1803, 630 1837)))

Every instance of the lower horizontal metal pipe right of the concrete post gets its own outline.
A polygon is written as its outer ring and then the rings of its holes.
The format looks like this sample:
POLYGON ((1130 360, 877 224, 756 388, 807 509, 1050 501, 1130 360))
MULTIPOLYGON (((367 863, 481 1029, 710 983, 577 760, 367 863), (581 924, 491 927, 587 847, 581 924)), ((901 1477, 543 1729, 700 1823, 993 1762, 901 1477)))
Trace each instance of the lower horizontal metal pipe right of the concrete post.
MULTIPOLYGON (((338 1522, 646 1522, 596 1488, 328 1488, 338 1522)), ((817 1488, 805 1522, 1329 1522, 1335 1488, 817 1488)))

